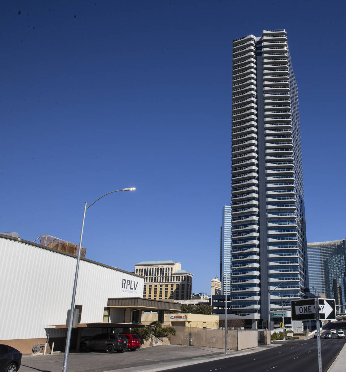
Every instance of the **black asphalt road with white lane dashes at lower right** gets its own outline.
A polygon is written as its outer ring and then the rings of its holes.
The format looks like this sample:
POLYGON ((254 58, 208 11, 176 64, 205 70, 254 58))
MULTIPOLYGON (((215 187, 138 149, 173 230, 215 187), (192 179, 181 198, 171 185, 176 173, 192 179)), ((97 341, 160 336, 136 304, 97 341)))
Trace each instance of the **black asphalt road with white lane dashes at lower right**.
MULTIPOLYGON (((331 328, 342 328, 342 324, 332 323, 331 328)), ((324 331, 323 331, 324 333, 324 331)), ((345 345, 345 339, 321 339, 322 371, 326 372, 345 345)), ((278 343, 280 341, 277 341, 278 343)), ((268 349, 259 353, 244 356, 235 356, 227 359, 219 359, 207 363, 199 363, 186 367, 170 369, 170 372, 316 372, 317 361, 317 339, 285 341, 282 346, 268 349)))

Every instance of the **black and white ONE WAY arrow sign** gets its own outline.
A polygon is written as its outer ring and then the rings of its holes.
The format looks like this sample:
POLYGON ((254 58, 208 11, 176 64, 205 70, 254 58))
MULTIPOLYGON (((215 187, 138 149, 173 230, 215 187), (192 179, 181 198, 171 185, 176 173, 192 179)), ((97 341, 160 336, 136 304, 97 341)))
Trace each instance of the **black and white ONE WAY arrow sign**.
MULTIPOLYGON (((335 300, 319 298, 318 310, 320 320, 336 320, 335 300)), ((315 299, 291 301, 292 320, 314 320, 316 316, 315 299)))

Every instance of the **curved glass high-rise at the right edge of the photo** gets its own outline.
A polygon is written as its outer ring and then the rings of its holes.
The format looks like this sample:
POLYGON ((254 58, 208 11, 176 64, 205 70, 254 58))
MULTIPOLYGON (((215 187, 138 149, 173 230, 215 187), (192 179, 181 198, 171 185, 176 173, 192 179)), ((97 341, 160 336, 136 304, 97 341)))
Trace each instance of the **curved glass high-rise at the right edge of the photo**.
POLYGON ((342 313, 346 311, 345 243, 346 239, 308 243, 310 291, 334 298, 337 312, 342 313))

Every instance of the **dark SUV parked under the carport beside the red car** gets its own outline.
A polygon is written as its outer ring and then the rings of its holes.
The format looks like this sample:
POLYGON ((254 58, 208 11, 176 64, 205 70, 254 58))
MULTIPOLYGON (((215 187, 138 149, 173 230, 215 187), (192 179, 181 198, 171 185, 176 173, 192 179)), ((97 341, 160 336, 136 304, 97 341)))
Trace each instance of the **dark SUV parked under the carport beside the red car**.
POLYGON ((128 350, 125 336, 115 333, 99 333, 80 342, 80 351, 104 350, 106 353, 122 352, 128 350))

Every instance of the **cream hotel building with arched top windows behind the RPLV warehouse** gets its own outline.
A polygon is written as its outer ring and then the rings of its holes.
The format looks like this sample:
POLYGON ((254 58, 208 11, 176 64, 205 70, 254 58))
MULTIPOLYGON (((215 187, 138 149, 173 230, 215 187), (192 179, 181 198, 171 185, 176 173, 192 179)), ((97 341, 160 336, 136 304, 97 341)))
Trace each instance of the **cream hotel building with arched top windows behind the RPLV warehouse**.
POLYGON ((135 264, 135 274, 144 276, 144 298, 191 298, 193 274, 181 270, 180 262, 143 261, 135 264))

